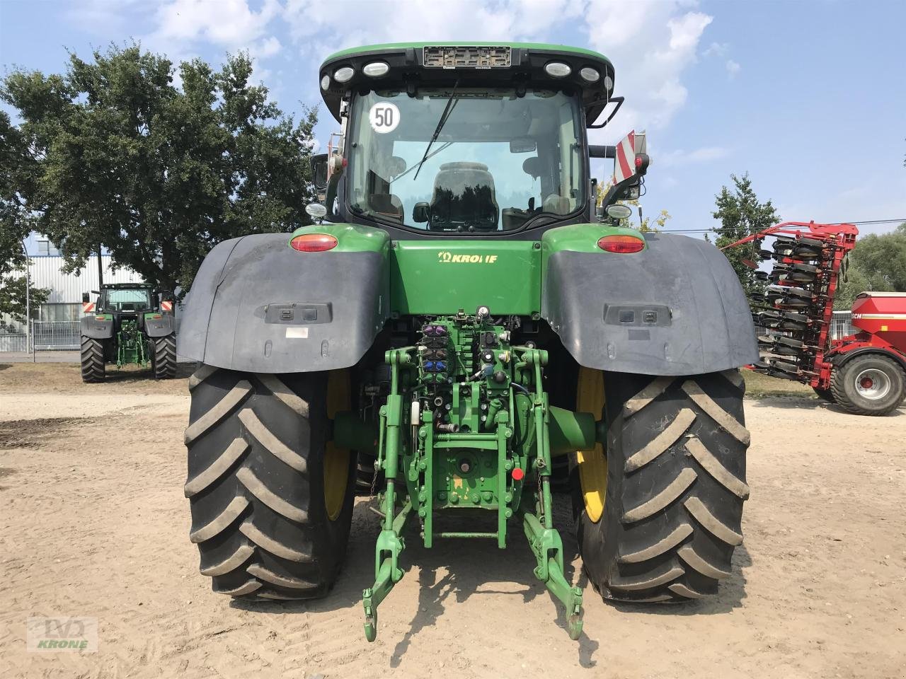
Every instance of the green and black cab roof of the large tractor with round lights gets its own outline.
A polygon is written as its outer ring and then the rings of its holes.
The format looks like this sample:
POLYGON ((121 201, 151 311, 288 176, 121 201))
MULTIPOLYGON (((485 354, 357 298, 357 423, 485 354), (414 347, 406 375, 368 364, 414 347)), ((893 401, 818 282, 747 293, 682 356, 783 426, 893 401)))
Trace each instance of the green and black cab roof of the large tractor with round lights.
POLYGON ((602 54, 561 44, 383 43, 331 54, 321 64, 318 80, 327 110, 338 121, 340 103, 348 91, 404 87, 414 94, 419 86, 451 85, 456 81, 466 86, 571 86, 582 92, 586 117, 594 120, 613 94, 613 65, 602 54), (362 69, 371 62, 386 63, 387 72, 369 77, 362 69), (569 74, 552 77, 545 72, 545 65, 550 62, 566 63, 569 74), (343 67, 352 68, 352 76, 338 82, 334 76, 343 67), (581 72, 585 68, 597 72, 597 80, 583 79, 581 72))

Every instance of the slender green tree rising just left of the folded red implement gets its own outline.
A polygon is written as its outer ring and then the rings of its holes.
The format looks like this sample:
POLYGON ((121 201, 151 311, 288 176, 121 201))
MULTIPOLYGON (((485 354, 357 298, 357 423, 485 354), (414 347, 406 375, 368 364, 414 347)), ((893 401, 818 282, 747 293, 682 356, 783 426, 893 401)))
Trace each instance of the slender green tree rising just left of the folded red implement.
MULTIPOLYGON (((715 219, 720 220, 720 226, 711 229, 717 234, 714 244, 718 248, 735 243, 747 235, 757 234, 780 221, 770 200, 766 203, 758 201, 748 173, 742 177, 730 175, 730 179, 733 180, 732 190, 727 186, 720 189, 718 196, 715 196, 717 209, 712 213, 715 219)), ((764 292, 765 289, 765 283, 758 281, 754 275, 755 271, 743 262, 743 260, 757 261, 752 250, 751 246, 743 246, 723 251, 736 271, 747 297, 753 292, 764 292)))

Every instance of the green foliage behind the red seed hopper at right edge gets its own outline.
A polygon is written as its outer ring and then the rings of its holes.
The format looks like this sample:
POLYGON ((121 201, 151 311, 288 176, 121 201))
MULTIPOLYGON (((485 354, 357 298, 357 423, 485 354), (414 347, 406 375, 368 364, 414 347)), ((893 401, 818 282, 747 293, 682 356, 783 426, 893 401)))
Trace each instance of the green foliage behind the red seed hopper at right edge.
POLYGON ((866 235, 849 253, 834 309, 849 309, 860 292, 906 292, 906 222, 892 234, 866 235))

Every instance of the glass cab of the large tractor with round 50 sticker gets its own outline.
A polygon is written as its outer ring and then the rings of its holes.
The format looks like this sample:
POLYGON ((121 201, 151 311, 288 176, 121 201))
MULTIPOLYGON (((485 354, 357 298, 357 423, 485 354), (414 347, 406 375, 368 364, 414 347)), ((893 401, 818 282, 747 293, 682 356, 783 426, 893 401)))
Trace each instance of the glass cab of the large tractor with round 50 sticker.
POLYGON ((408 237, 589 222, 597 196, 588 158, 612 158, 614 147, 589 147, 586 128, 612 118, 615 109, 594 124, 622 103, 612 90, 606 58, 559 45, 333 54, 321 91, 341 143, 314 158, 328 217, 408 237))

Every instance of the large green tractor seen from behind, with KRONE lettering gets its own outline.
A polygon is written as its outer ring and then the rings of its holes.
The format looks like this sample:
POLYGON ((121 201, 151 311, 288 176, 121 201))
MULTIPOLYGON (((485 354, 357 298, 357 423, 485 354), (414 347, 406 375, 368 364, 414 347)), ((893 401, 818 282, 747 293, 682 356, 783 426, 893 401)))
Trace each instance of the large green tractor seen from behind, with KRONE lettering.
POLYGON ((326 595, 364 491, 383 517, 369 640, 405 540, 504 549, 520 532, 574 639, 583 592, 552 511, 567 485, 602 597, 717 592, 742 540, 737 368, 756 339, 716 248, 621 226, 649 159, 641 135, 588 142, 622 103, 611 62, 384 44, 320 79, 342 131, 315 158, 318 223, 218 244, 179 337, 201 363, 185 493, 214 590, 326 595), (615 164, 597 209, 589 158, 615 164))

